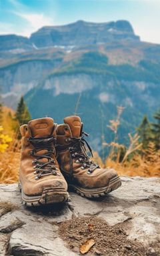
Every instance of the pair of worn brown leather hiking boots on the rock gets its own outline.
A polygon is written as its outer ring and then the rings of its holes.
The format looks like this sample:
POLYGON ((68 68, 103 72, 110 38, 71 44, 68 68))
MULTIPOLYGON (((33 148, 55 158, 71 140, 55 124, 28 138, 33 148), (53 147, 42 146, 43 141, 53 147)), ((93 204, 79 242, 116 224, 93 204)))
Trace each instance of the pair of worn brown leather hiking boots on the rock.
POLYGON ((121 185, 117 172, 89 159, 78 116, 57 125, 52 118, 29 121, 22 135, 19 187, 23 203, 41 205, 69 200, 68 186, 83 197, 100 197, 121 185))

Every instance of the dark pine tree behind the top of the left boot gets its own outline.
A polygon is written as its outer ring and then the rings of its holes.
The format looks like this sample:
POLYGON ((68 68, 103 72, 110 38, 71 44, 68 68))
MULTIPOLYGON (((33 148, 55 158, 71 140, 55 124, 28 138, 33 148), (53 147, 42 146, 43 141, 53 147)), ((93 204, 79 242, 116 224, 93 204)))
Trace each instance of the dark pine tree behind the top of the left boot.
POLYGON ((17 106, 17 111, 15 113, 15 120, 18 121, 19 125, 23 125, 27 123, 30 119, 31 115, 29 113, 27 105, 25 104, 23 97, 21 97, 17 106))

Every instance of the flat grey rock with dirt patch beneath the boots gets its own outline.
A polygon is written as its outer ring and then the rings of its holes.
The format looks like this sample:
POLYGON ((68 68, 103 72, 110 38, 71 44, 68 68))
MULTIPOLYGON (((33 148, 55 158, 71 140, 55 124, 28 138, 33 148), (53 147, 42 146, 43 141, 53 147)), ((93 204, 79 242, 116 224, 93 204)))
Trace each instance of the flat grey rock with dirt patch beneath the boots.
POLYGON ((64 205, 25 207, 17 184, 0 185, 1 256, 78 256, 89 237, 88 256, 159 256, 159 189, 158 178, 122 177, 101 199, 71 192, 64 205))

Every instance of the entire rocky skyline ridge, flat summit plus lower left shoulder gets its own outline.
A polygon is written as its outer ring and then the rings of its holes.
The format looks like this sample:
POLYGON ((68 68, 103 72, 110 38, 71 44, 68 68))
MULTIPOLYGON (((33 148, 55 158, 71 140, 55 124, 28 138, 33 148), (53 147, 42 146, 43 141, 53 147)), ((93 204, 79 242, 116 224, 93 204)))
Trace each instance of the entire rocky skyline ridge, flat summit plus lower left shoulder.
POLYGON ((30 51, 43 47, 79 47, 121 40, 139 41, 129 21, 93 23, 76 21, 68 25, 45 26, 30 38, 19 35, 1 35, 0 51, 30 51))

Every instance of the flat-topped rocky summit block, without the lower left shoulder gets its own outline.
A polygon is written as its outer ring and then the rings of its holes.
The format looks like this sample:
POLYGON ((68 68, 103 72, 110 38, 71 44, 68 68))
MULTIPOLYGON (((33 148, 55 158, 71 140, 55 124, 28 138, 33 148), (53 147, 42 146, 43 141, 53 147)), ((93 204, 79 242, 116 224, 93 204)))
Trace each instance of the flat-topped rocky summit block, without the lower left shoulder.
POLYGON ((122 39, 139 40, 128 21, 77 21, 69 25, 43 27, 31 35, 31 41, 37 47, 96 45, 122 39))

